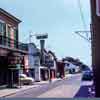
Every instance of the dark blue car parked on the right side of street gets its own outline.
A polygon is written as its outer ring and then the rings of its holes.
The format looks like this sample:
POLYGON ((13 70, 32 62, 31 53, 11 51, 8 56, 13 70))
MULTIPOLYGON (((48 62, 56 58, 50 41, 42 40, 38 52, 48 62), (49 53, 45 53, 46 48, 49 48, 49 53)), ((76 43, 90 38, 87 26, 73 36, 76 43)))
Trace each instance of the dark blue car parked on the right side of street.
POLYGON ((82 80, 92 81, 93 80, 93 72, 91 70, 84 71, 82 80))

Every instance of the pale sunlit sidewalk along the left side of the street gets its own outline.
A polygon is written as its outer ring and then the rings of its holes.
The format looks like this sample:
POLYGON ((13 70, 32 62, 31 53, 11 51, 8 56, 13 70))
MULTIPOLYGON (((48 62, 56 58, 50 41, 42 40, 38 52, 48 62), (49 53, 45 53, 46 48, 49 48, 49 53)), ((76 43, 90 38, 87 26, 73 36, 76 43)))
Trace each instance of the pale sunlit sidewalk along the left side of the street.
MULTIPOLYGON (((59 80, 62 80, 62 79, 53 79, 52 82, 56 82, 56 81, 59 81, 59 80)), ((35 88, 35 87, 41 86, 43 84, 48 84, 48 83, 49 83, 49 81, 41 81, 41 82, 35 82, 33 85, 21 86, 21 88, 4 88, 3 87, 2 89, 0 89, 0 97, 13 95, 16 92, 25 91, 25 90, 35 88)))

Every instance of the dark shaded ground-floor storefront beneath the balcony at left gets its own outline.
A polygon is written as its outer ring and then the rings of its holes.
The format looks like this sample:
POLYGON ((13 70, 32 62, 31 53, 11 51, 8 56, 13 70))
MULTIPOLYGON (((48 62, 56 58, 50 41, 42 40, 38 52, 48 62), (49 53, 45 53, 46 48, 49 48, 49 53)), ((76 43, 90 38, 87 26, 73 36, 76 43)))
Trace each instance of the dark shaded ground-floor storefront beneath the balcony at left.
POLYGON ((12 83, 18 83, 19 70, 17 64, 24 67, 22 65, 22 57, 21 52, 0 48, 0 85, 10 86, 12 83))

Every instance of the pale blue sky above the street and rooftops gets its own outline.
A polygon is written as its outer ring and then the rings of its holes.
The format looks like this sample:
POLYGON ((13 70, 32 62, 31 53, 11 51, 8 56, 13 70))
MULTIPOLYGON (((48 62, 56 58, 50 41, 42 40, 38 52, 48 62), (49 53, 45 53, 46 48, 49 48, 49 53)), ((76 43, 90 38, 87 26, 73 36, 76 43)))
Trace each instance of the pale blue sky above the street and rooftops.
POLYGON ((45 48, 56 56, 79 58, 91 66, 91 45, 75 34, 75 31, 89 30, 90 2, 80 0, 84 14, 85 28, 80 16, 78 0, 0 0, 0 7, 19 18, 19 40, 31 41, 38 47, 34 34, 48 33, 45 48))

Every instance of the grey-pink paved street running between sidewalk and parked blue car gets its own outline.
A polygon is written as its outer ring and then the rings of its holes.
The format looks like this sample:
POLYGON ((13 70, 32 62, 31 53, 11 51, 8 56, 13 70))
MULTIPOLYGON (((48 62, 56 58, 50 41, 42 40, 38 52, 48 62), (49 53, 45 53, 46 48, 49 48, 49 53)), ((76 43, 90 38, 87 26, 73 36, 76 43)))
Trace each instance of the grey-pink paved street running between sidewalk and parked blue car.
POLYGON ((24 98, 72 98, 75 96, 81 85, 81 74, 75 74, 67 79, 41 84, 38 87, 26 91, 17 92, 5 98, 24 97, 24 98))

